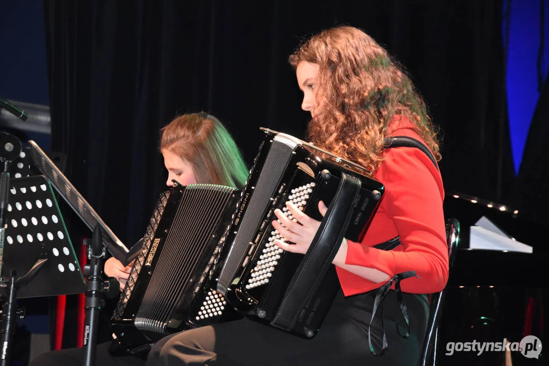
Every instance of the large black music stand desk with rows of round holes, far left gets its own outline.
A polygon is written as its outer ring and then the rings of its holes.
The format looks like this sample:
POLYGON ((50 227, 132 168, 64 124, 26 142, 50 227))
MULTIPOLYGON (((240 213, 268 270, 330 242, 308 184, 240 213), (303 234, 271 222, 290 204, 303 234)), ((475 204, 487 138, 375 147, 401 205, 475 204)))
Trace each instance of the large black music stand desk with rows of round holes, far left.
POLYGON ((18 299, 81 294, 86 291, 80 266, 59 211, 51 184, 44 176, 10 181, 2 275, 23 276, 40 258, 40 272, 17 289, 18 299))

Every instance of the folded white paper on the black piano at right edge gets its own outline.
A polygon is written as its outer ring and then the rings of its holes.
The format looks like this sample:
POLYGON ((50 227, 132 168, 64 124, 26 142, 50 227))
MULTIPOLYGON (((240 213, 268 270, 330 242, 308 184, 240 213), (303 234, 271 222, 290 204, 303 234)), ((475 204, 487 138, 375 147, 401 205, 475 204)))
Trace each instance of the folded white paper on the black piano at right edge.
POLYGON ((471 227, 469 247, 471 249, 508 250, 523 253, 533 252, 533 247, 510 238, 484 216, 477 221, 475 226, 471 227))

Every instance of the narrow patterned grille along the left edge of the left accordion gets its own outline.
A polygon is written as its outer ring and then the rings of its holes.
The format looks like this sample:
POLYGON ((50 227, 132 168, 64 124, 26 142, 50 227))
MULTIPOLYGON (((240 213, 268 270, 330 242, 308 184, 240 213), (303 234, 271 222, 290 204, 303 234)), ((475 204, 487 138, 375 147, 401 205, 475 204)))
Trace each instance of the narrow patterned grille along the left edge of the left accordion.
POLYGON ((114 320, 121 320, 124 315, 128 300, 130 300, 130 296, 132 294, 133 287, 136 284, 139 272, 141 272, 141 268, 143 268, 145 257, 147 256, 147 252, 150 248, 150 243, 153 241, 154 233, 156 232, 156 228, 158 228, 158 223, 160 222, 160 218, 162 217, 162 213, 164 212, 164 207, 166 207, 166 202, 169 196, 170 191, 166 190, 160 194, 158 200, 156 201, 153 215, 150 217, 150 221, 145 232, 141 254, 139 254, 133 263, 132 270, 130 271, 130 275, 126 281, 126 286, 124 287, 124 291, 120 294, 120 299, 113 312, 113 316, 111 317, 114 320))

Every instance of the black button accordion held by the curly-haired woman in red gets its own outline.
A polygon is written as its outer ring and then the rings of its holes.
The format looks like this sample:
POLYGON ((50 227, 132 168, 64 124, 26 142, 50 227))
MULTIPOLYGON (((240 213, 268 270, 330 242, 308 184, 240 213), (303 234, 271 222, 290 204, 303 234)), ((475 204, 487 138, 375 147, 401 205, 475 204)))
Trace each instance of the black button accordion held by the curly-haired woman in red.
POLYGON ((361 166, 287 134, 262 130, 266 136, 241 194, 214 281, 238 311, 311 338, 340 290, 332 260, 343 235, 355 241, 363 237, 384 186, 361 166), (324 219, 318 211, 320 200, 328 207, 324 219), (272 243, 283 239, 272 226, 276 209, 295 221, 287 201, 322 222, 305 255, 272 243), (334 227, 339 229, 336 234, 334 227), (318 255, 319 251, 324 254, 318 255))

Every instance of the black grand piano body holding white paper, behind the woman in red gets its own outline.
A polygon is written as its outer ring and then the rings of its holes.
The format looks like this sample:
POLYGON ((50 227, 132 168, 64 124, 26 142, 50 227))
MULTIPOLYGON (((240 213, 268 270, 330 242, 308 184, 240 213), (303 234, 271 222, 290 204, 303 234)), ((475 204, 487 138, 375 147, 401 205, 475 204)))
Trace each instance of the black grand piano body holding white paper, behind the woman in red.
POLYGON ((460 221, 450 286, 545 286, 541 270, 549 259, 547 226, 513 207, 464 194, 447 194, 444 213, 460 221), (478 242, 486 237, 488 244, 478 242), (477 240, 473 245, 471 238, 477 240))

